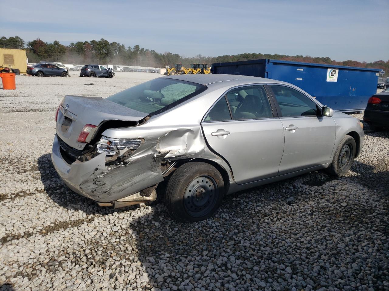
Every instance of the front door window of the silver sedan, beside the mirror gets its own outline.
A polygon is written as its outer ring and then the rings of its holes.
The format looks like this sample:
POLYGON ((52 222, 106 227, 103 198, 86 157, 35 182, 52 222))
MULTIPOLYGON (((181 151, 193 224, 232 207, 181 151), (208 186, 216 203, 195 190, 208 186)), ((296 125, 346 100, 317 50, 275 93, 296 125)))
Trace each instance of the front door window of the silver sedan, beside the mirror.
POLYGON ((312 116, 317 115, 319 110, 314 101, 303 93, 286 86, 270 85, 282 117, 312 116))

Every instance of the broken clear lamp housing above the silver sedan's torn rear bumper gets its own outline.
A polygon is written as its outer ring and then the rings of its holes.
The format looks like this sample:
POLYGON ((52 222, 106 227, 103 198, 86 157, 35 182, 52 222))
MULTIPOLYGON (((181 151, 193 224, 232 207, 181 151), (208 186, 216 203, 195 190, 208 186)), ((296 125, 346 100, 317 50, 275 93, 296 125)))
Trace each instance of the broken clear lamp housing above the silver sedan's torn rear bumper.
MULTIPOLYGON (((97 143, 97 152, 112 158, 119 158, 124 155, 131 154, 144 142, 143 139, 112 139, 102 136, 97 143)), ((112 160, 112 159, 110 159, 112 160)))

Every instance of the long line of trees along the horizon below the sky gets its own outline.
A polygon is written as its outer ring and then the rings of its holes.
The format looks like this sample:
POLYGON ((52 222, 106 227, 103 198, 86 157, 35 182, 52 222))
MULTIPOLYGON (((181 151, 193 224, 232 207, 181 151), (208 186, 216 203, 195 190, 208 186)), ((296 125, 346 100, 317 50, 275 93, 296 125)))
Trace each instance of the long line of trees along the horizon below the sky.
POLYGON ((277 59, 284 61, 310 62, 318 64, 329 64, 339 66, 353 66, 363 68, 384 69, 386 76, 389 76, 389 60, 375 62, 358 61, 335 61, 329 57, 310 57, 303 55, 279 55, 279 54, 257 54, 244 53, 238 55, 220 55, 217 57, 205 57, 196 55, 195 57, 182 57, 179 54, 170 52, 158 53, 155 50, 144 49, 139 45, 126 47, 124 44, 109 42, 105 39, 91 40, 85 42, 70 43, 63 45, 57 40, 47 43, 37 38, 30 42, 25 42, 19 36, 0 38, 0 48, 6 49, 26 49, 29 62, 53 61, 63 64, 121 64, 129 66, 145 66, 163 68, 182 63, 189 66, 191 63, 212 64, 215 62, 247 61, 253 59, 277 59))

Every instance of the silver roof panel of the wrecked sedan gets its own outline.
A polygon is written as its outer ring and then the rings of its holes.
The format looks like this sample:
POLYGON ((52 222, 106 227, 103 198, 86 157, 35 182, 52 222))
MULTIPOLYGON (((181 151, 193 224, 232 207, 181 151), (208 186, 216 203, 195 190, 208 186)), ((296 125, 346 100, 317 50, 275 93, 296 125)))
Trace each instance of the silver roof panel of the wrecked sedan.
POLYGON ((170 79, 198 83, 202 85, 209 85, 212 83, 227 82, 227 81, 242 81, 247 83, 285 83, 282 81, 277 81, 277 80, 272 80, 267 78, 242 76, 242 75, 229 75, 229 74, 182 74, 182 75, 163 76, 160 78, 170 78, 170 79))

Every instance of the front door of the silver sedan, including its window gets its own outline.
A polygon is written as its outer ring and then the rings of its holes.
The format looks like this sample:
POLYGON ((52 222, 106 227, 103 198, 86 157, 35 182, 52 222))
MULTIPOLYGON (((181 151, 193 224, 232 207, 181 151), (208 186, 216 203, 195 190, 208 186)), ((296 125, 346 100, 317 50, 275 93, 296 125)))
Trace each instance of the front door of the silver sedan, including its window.
POLYGON ((329 162, 335 145, 335 121, 302 92, 269 84, 280 111, 285 147, 279 175, 329 162))

